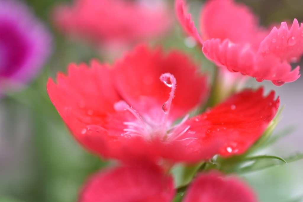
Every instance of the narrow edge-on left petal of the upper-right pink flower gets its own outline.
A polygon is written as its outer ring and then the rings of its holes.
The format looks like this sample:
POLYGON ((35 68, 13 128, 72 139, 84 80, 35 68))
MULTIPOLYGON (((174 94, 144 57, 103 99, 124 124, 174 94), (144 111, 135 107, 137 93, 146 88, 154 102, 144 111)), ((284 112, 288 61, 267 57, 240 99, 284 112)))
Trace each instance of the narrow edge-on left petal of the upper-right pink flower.
POLYGON ((195 27, 194 21, 191 20, 191 14, 186 14, 187 12, 185 7, 185 0, 175 1, 175 12, 178 21, 181 24, 182 28, 186 31, 186 33, 195 38, 195 40, 202 45, 203 40, 199 35, 197 28, 195 27))

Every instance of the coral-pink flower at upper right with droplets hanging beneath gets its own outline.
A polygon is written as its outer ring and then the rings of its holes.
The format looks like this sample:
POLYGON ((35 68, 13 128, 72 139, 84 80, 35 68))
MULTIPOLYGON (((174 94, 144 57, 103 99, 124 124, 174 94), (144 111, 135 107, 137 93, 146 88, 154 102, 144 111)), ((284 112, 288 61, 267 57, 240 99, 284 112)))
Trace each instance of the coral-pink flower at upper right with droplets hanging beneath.
POLYGON ((210 0, 201 12, 201 33, 185 15, 184 1, 176 0, 179 22, 197 41, 203 44, 205 56, 231 72, 270 80, 275 85, 299 78, 299 67, 291 71, 289 62, 303 54, 303 26, 295 19, 288 30, 285 22, 269 31, 258 27, 258 20, 242 4, 232 0, 210 0), (203 42, 203 39, 207 40, 203 42))

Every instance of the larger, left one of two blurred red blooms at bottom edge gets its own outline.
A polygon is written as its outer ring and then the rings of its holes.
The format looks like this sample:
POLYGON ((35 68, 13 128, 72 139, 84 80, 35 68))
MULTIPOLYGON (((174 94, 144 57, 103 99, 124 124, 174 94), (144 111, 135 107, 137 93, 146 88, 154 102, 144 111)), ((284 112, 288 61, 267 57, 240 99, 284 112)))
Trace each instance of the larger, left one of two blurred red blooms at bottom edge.
POLYGON ((101 171, 85 183, 79 202, 170 202, 173 180, 155 165, 132 165, 101 171))

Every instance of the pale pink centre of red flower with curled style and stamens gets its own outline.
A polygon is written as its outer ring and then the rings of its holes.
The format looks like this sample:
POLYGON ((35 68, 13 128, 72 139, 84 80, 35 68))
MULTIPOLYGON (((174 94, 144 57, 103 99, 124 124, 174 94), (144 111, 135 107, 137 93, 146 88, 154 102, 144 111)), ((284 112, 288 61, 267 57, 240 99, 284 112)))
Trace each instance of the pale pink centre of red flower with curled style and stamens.
POLYGON ((134 108, 130 107, 125 101, 119 101, 114 104, 115 110, 127 110, 135 117, 134 121, 123 122, 123 124, 125 124, 127 127, 123 129, 125 133, 122 135, 127 135, 128 137, 141 136, 150 141, 154 138, 160 138, 163 141, 182 141, 188 139, 179 139, 190 127, 184 125, 185 121, 188 119, 188 114, 182 119, 179 124, 176 124, 174 126, 168 125, 168 115, 171 110, 171 103, 174 98, 177 81, 175 77, 170 73, 162 74, 160 76, 160 81, 162 81, 167 87, 171 88, 169 98, 162 106, 164 117, 161 125, 155 126, 148 124, 148 122, 144 121, 134 108))

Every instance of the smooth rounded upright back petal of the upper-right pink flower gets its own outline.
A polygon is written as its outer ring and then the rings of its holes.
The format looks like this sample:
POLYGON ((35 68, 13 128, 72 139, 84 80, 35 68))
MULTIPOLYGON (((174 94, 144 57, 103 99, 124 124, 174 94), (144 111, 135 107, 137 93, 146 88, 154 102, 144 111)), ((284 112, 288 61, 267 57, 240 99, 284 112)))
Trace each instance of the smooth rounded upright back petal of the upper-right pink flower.
POLYGON ((210 0, 201 11, 200 27, 204 39, 220 38, 247 43, 255 41, 258 19, 244 4, 232 0, 210 0))

